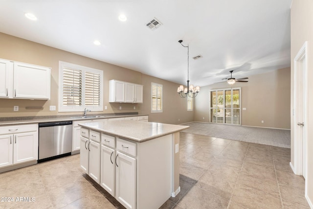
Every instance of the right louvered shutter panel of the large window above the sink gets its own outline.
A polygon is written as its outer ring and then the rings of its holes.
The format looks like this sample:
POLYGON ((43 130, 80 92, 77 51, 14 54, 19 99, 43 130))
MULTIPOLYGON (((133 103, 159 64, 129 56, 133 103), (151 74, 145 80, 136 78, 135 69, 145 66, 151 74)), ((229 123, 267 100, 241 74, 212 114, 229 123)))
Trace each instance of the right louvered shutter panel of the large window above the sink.
POLYGON ((85 105, 100 105, 100 74, 98 73, 85 73, 85 105))

